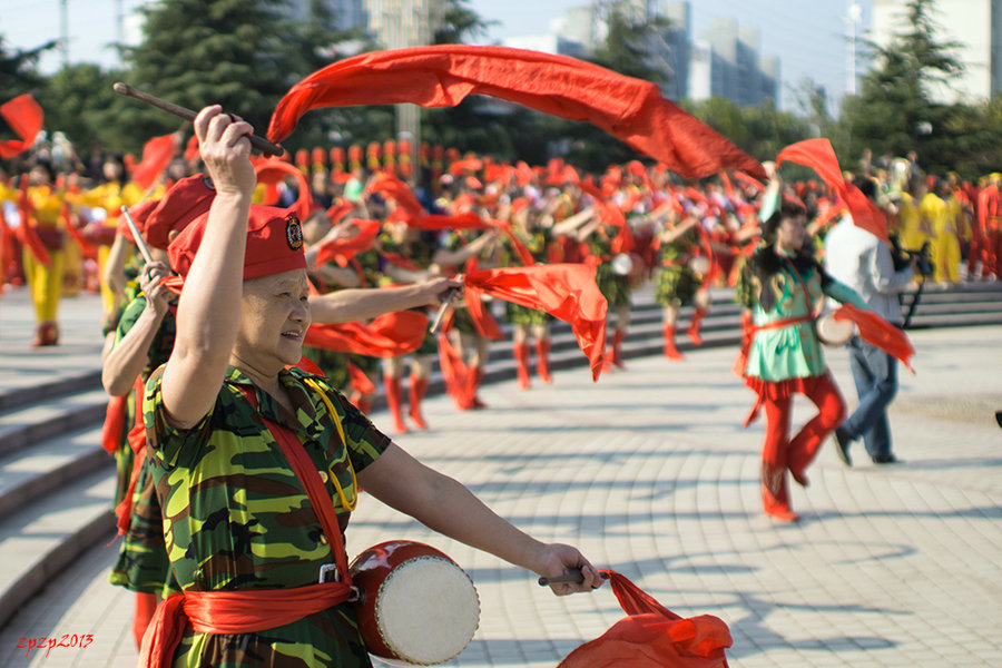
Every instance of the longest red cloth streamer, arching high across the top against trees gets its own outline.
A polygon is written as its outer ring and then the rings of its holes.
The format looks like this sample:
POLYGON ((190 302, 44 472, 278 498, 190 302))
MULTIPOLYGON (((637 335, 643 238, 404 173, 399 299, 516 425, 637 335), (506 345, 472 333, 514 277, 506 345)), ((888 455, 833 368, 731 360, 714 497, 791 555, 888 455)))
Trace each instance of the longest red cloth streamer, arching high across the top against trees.
POLYGON ((757 160, 662 98, 657 85, 566 56, 505 47, 438 45, 340 60, 286 92, 272 115, 268 139, 285 139, 318 107, 454 107, 470 94, 587 120, 686 178, 724 169, 765 177, 757 160))

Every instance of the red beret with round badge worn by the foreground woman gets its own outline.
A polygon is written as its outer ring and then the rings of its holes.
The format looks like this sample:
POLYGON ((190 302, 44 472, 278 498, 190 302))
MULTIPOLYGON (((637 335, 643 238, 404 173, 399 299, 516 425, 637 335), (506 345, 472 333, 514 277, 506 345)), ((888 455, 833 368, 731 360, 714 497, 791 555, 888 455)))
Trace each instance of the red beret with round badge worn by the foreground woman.
MULTIPOLYGON (((191 268, 207 220, 208 212, 188 225, 167 247, 170 266, 181 276, 187 276, 191 268)), ((296 215, 284 208, 250 205, 244 281, 305 268, 303 229, 296 215)))

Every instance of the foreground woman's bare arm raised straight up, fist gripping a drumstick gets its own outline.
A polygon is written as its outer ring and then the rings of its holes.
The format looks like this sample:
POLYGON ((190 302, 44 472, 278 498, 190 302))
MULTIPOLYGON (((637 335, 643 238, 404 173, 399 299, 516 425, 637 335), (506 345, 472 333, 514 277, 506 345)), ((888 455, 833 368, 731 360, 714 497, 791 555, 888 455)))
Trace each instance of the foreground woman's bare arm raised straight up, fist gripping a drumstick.
POLYGON ((181 429, 194 426, 212 409, 229 364, 240 321, 247 219, 256 183, 249 124, 214 105, 199 111, 194 125, 216 197, 200 252, 185 279, 177 338, 161 381, 164 407, 181 429))

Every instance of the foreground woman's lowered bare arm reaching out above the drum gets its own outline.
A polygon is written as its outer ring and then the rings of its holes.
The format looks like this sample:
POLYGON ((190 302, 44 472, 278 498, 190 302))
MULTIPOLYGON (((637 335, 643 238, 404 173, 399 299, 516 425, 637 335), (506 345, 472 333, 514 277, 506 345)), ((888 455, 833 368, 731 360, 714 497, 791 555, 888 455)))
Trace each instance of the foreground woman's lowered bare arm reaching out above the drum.
POLYGON ((602 582, 595 567, 574 548, 543 543, 523 533, 465 487, 429 469, 396 445, 390 445, 358 473, 358 483, 386 505, 425 527, 540 576, 581 569, 583 582, 551 584, 554 593, 590 591, 602 582))

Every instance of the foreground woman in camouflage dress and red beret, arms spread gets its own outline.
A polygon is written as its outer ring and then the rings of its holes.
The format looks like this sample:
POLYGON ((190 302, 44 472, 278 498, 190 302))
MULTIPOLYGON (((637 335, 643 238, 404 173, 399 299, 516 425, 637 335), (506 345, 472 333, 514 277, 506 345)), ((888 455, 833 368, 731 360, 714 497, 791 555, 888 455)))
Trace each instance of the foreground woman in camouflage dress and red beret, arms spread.
POLYGON ((140 662, 369 666, 346 572, 317 582, 321 567, 344 560, 360 485, 540 574, 580 568, 582 581, 551 584, 557 593, 599 587, 578 550, 522 533, 393 444, 321 376, 286 369, 311 321, 298 222, 250 205, 248 124, 213 106, 194 125, 218 194, 171 244, 186 287, 174 352, 145 404, 164 537, 184 593, 158 608, 140 662), (304 459, 333 500, 333 531, 321 529, 327 515, 291 469, 304 459))

